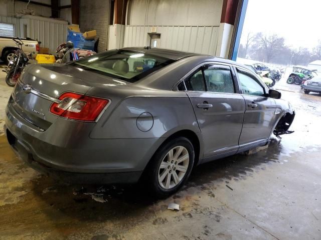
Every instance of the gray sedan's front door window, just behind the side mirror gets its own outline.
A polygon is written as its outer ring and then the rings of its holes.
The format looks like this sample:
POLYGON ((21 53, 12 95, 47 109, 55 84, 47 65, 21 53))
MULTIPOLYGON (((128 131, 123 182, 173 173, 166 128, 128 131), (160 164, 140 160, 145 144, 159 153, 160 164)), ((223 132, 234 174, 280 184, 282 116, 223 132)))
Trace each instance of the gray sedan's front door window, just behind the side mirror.
POLYGON ((243 71, 237 71, 241 90, 243 94, 247 95, 255 95, 255 96, 263 96, 264 95, 264 88, 261 86, 257 80, 251 76, 249 73, 243 71))

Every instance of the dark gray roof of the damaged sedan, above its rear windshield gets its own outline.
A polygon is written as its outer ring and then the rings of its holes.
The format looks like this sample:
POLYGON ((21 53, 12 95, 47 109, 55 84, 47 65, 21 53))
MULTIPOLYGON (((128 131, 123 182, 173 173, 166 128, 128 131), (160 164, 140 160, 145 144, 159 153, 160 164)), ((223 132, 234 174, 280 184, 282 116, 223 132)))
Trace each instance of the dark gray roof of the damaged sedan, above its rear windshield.
POLYGON ((204 54, 199 53, 192 53, 192 52, 184 52, 184 51, 176 51, 171 49, 165 49, 165 48, 153 48, 153 47, 124 47, 121 48, 123 50, 130 50, 130 51, 138 51, 143 53, 150 53, 153 55, 166 57, 172 60, 179 60, 184 57, 188 56, 205 56, 204 54))

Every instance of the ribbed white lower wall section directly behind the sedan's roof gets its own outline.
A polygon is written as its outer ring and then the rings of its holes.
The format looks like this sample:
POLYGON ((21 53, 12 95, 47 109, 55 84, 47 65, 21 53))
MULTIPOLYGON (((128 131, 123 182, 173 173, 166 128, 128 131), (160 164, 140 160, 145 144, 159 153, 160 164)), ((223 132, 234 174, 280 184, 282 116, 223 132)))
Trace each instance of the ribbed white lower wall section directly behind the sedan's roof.
MULTIPOLYGON (((124 47, 149 46, 152 26, 126 25, 124 47)), ((161 33, 157 47, 215 55, 219 26, 155 26, 161 33)))

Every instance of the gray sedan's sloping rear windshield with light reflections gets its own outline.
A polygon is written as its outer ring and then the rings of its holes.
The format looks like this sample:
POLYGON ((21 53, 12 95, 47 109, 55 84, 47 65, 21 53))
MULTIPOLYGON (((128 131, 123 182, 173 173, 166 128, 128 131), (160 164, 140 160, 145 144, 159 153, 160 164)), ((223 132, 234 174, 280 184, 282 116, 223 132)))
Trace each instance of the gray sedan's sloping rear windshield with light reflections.
POLYGON ((72 66, 135 82, 174 60, 128 50, 110 50, 71 62, 72 66))

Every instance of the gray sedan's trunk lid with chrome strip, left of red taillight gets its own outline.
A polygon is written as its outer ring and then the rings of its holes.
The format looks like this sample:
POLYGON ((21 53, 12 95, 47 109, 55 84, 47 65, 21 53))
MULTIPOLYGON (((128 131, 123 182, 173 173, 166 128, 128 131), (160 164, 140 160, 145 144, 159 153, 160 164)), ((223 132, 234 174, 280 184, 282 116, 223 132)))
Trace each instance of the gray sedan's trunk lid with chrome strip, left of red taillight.
POLYGON ((26 67, 10 101, 18 114, 38 128, 46 130, 58 117, 49 109, 60 94, 66 91, 86 94, 93 85, 111 82, 112 79, 108 77, 69 65, 32 64, 26 67), (32 92, 26 93, 23 88, 26 84, 32 86, 32 92))

